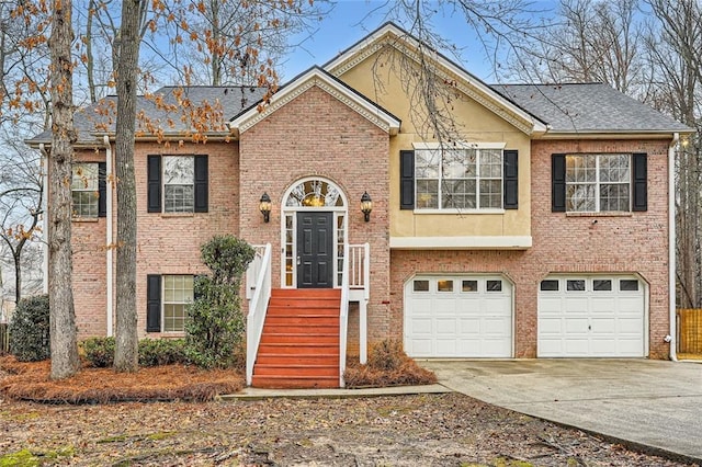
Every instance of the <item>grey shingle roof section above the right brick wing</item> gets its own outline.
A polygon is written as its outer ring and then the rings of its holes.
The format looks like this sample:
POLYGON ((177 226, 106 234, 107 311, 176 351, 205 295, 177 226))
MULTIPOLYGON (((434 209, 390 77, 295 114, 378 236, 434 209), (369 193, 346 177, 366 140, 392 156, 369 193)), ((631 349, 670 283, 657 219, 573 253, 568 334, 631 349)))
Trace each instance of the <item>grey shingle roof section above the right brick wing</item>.
POLYGON ((693 132, 608 84, 492 84, 554 133, 693 132))

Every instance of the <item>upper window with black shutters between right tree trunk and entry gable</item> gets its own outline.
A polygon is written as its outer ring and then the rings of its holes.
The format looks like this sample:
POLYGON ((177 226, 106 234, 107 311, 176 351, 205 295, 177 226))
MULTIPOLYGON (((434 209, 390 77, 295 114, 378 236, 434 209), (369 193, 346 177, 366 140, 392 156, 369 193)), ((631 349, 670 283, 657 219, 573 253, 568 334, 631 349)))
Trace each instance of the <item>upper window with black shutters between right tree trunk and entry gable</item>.
POLYGON ((149 213, 206 213, 207 156, 149 156, 149 213))

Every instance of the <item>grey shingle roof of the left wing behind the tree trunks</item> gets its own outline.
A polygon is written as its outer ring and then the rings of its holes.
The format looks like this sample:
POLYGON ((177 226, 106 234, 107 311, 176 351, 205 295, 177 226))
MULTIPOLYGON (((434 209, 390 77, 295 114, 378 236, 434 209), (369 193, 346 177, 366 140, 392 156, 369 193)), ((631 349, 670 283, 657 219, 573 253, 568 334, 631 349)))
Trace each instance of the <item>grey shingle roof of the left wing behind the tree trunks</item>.
MULTIPOLYGON (((193 106, 203 106, 205 103, 214 106, 218 102, 218 109, 222 110, 222 124, 227 124, 231 117, 258 103, 265 93, 263 88, 256 87, 163 87, 148 99, 144 95, 137 96, 137 114, 144 112, 144 118, 139 118, 139 122, 150 122, 160 127, 166 134, 192 130, 188 119, 183 121, 183 112, 180 107, 171 112, 163 109, 162 105, 156 104, 156 99, 158 98, 162 99, 165 104, 178 105, 179 99, 177 94, 181 90, 180 102, 183 99, 188 99, 193 103, 193 106)), ((115 95, 110 95, 76 112, 73 124, 78 132, 79 143, 94 143, 95 133, 114 133, 116 101, 117 98, 115 95)), ((50 141, 50 129, 27 140, 27 143, 35 145, 50 141)))

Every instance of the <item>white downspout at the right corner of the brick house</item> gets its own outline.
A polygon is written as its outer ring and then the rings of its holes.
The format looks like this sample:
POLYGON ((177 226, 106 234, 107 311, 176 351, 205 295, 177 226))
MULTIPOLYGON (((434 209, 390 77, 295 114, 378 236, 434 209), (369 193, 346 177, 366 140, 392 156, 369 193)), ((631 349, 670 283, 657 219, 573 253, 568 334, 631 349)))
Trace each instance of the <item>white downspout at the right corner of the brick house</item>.
POLYGON ((676 317, 676 149, 680 134, 672 134, 668 147, 668 305, 670 307, 670 360, 678 361, 678 327, 676 317))

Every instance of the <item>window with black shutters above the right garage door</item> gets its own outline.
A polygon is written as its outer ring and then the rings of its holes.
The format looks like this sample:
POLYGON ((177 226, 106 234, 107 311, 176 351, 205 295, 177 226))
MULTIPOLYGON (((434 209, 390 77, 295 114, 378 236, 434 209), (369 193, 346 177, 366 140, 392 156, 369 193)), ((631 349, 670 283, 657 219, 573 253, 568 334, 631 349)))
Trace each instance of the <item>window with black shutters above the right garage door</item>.
POLYGON ((554 155, 553 210, 646 210, 646 166, 645 153, 554 155))

